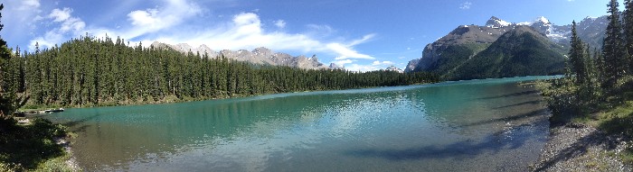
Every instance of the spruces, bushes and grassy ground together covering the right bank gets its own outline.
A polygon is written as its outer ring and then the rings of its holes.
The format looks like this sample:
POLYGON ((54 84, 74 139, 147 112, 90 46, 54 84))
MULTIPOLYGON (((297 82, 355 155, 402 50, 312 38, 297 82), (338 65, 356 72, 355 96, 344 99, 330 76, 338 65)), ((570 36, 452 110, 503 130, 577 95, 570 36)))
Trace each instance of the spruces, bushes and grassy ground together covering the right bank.
POLYGON ((590 53, 573 23, 566 76, 541 82, 538 87, 553 113, 553 125, 581 123, 628 141, 619 158, 633 164, 633 1, 626 0, 625 5, 620 13, 618 2, 610 1, 601 52, 590 53))

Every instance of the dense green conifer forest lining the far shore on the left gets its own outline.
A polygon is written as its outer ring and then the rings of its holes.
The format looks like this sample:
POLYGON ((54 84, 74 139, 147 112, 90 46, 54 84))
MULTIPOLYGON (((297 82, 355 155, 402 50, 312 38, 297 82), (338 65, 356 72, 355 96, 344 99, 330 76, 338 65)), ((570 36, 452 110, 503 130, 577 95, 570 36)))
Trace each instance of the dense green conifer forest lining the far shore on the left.
POLYGON ((20 53, 4 64, 27 105, 117 105, 436 82, 428 73, 351 72, 253 65, 90 36, 20 53))

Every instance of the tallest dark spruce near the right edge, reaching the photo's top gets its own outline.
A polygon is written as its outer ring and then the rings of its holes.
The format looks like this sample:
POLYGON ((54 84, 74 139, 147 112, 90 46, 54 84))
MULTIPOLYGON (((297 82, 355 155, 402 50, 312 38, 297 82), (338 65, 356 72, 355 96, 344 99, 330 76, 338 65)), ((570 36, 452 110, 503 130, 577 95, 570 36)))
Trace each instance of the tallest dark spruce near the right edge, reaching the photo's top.
POLYGON ((606 36, 602 46, 602 57, 604 58, 605 83, 602 86, 612 88, 619 78, 624 76, 628 66, 628 59, 625 57, 626 49, 622 34, 622 25, 619 21, 618 0, 609 2, 609 24, 607 25, 606 36))

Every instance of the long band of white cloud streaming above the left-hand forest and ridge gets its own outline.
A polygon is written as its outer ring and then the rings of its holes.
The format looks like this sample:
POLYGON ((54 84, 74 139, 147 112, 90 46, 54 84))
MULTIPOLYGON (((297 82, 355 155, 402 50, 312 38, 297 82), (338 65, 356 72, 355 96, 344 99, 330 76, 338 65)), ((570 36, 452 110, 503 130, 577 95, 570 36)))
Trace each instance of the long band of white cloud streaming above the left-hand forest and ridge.
MULTIPOLYGON (((120 28, 107 28, 95 25, 86 26, 79 17, 72 15, 71 8, 55 9, 45 19, 56 24, 49 32, 33 39, 41 47, 51 47, 55 43, 79 37, 89 32, 96 37, 120 36, 128 41, 146 42, 161 41, 170 44, 189 43, 192 46, 205 44, 213 50, 252 50, 267 47, 271 50, 294 50, 306 53, 324 53, 349 64, 356 59, 374 59, 354 49, 354 46, 373 40, 375 34, 365 34, 362 38, 346 40, 330 34, 335 30, 326 24, 308 24, 307 31, 289 33, 283 31, 267 31, 264 29, 260 16, 254 13, 235 14, 230 21, 216 22, 211 26, 201 26, 195 20, 203 11, 194 2, 187 0, 164 0, 163 4, 155 8, 133 10, 128 13, 128 24, 119 25, 120 28), (196 17, 197 16, 197 17, 196 17), (195 21, 198 25, 191 25, 195 21), (183 27, 203 28, 198 30, 184 30, 183 27), (352 61, 345 59, 354 59, 352 61)), ((285 28, 288 24, 284 20, 267 23, 285 28)))

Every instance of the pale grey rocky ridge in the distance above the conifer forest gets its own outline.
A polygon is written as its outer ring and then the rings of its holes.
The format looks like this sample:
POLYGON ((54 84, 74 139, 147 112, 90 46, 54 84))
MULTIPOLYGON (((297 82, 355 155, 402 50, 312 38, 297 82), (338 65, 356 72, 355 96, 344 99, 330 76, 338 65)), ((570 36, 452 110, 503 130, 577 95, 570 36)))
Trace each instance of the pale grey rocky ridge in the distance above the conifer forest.
POLYGON ((182 53, 187 53, 191 51, 193 53, 199 53, 201 56, 203 56, 206 53, 207 56, 210 58, 217 58, 217 57, 223 56, 224 58, 227 58, 227 59, 247 61, 253 64, 260 64, 260 65, 287 66, 287 67, 292 67, 292 68, 305 68, 305 69, 342 68, 342 67, 337 67, 335 65, 334 66, 330 65, 330 67, 328 67, 324 65, 323 63, 319 62, 318 59, 316 58, 316 55, 313 55, 310 58, 307 58, 305 56, 293 57, 287 53, 273 52, 272 50, 269 50, 263 47, 257 48, 252 51, 220 50, 219 52, 216 52, 210 49, 209 47, 207 47, 206 45, 200 45, 199 47, 194 48, 186 43, 179 43, 179 44, 172 45, 172 44, 166 44, 166 43, 154 41, 151 44, 151 46, 158 49, 177 50, 182 53))

